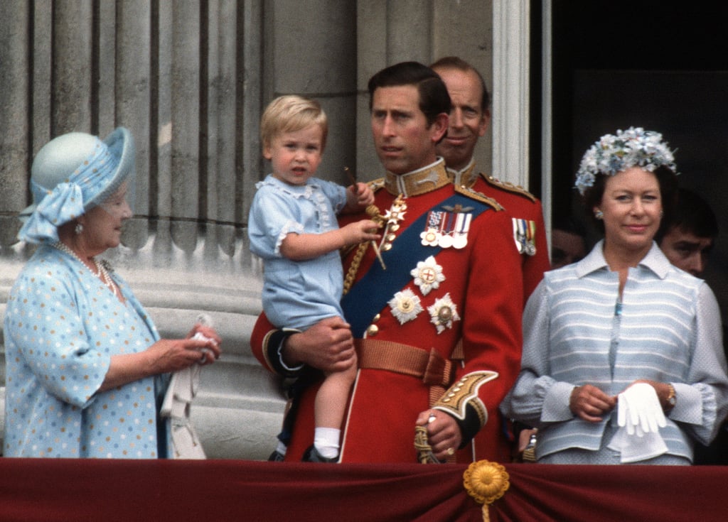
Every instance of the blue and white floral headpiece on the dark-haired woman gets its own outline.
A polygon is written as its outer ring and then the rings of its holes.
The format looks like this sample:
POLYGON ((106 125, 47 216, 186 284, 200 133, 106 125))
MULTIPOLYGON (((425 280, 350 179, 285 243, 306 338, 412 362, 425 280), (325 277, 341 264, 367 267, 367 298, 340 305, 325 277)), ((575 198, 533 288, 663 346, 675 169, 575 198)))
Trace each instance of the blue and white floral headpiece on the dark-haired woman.
POLYGON ((646 131, 642 127, 604 134, 584 154, 574 186, 583 196, 587 188, 594 185, 597 174, 614 176, 633 166, 648 172, 666 166, 677 174, 674 152, 662 142, 660 132, 646 131))

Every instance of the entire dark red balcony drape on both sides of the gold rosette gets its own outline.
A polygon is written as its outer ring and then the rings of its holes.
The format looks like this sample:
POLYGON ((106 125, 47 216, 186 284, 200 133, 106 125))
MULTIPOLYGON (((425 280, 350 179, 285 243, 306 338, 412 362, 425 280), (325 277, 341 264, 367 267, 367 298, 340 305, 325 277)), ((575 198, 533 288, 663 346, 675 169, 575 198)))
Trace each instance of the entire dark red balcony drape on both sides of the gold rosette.
MULTIPOLYGON (((482 521, 464 465, 0 459, 0 521, 482 521)), ((507 465, 491 521, 728 520, 728 467, 507 465)))

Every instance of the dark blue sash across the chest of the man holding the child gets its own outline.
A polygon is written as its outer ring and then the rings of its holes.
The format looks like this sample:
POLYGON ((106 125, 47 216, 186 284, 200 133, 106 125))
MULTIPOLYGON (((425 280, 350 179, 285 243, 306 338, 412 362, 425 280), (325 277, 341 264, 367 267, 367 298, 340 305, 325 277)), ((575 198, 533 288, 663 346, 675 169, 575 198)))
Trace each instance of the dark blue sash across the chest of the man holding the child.
MULTIPOLYGON (((472 219, 478 217, 492 207, 478 200, 454 194, 445 201, 440 201, 432 210, 443 206, 467 206, 472 209, 472 219)), ((430 212, 423 212, 400 236, 395 240, 397 251, 391 249, 381 252, 387 270, 382 270, 379 262, 373 262, 365 275, 352 286, 349 293, 341 299, 341 308, 344 318, 352 325, 352 334, 355 338, 364 336, 364 332, 371 324, 372 318, 384 308, 384 305, 394 297, 394 294, 408 284, 412 279, 410 271, 417 266, 417 262, 424 261, 431 255, 437 255, 440 246, 425 246, 419 236, 424 232, 424 225, 430 212)))

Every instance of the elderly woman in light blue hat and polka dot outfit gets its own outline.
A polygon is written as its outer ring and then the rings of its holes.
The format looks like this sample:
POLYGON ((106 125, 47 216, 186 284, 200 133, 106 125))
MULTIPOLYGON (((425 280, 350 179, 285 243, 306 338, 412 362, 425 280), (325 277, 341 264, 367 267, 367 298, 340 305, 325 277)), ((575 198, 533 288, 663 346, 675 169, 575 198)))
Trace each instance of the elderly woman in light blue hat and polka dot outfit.
POLYGON ((33 160, 33 204, 18 238, 39 246, 5 313, 5 457, 167 457, 159 404, 168 374, 220 354, 207 326, 160 340, 127 284, 97 259, 132 217, 134 159, 119 127, 103 141, 63 134, 33 160))

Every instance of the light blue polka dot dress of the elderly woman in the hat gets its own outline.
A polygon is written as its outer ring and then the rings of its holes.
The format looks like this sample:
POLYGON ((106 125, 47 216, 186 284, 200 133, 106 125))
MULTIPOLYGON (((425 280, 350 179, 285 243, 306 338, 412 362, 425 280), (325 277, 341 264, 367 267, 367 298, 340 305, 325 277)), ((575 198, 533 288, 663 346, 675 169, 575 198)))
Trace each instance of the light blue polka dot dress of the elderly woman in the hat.
POLYGON ((111 277, 125 303, 52 246, 39 246, 20 272, 4 322, 5 457, 160 457, 157 401, 168 376, 98 391, 111 356, 159 339, 127 284, 111 277))

